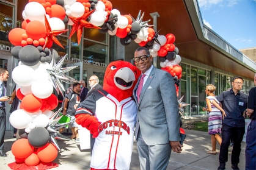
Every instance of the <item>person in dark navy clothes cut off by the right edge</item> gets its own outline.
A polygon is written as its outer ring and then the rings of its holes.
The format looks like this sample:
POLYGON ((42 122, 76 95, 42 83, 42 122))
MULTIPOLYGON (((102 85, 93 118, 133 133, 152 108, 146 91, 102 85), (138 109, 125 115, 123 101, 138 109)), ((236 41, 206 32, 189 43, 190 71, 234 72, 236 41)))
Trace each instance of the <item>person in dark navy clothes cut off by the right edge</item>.
MULTIPOLYGON (((256 86, 256 73, 254 75, 256 86)), ((251 88, 248 96, 247 116, 251 122, 246 133, 246 170, 256 169, 256 87, 251 88)))

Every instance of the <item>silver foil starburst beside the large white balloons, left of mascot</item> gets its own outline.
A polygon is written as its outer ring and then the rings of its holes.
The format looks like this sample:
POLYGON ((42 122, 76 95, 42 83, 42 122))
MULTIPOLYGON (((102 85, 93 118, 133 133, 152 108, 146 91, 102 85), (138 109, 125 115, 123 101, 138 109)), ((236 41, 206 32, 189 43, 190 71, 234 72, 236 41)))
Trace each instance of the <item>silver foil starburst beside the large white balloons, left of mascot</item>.
POLYGON ((62 68, 65 57, 66 57, 66 55, 63 58, 61 58, 58 63, 56 63, 56 59, 53 54, 53 58, 51 60, 51 63, 49 64, 51 66, 51 68, 46 69, 46 71, 49 73, 49 76, 51 77, 51 79, 50 79, 51 84, 56 89, 57 93, 62 94, 62 96, 64 96, 62 91, 65 91, 65 88, 64 88, 62 82, 65 82, 68 84, 70 81, 78 82, 78 80, 73 79, 72 77, 67 76, 65 74, 68 71, 70 71, 71 69, 74 69, 77 67, 77 66, 70 66, 70 67, 62 68))

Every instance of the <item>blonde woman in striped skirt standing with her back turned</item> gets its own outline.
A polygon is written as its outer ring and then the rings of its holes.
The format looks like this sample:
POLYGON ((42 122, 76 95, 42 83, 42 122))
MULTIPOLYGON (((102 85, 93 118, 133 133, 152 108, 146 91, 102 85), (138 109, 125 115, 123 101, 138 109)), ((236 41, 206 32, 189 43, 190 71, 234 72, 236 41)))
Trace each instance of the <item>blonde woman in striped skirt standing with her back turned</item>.
POLYGON ((207 98, 207 108, 203 107, 203 111, 208 112, 208 134, 211 135, 211 151, 207 151, 207 154, 216 154, 216 141, 221 145, 221 136, 218 133, 221 133, 221 124, 222 124, 222 114, 225 114, 224 110, 219 106, 215 100, 215 95, 213 94, 216 90, 216 87, 212 84, 207 85, 205 88, 205 93, 207 98))

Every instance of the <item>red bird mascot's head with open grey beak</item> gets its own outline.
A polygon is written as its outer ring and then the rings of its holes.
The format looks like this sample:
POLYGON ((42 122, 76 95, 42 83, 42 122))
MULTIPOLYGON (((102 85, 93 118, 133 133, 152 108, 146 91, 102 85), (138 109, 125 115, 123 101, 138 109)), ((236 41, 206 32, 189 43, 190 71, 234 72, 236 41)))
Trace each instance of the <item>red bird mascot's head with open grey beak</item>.
POLYGON ((133 95, 133 88, 140 75, 141 71, 129 62, 111 62, 106 68, 103 90, 120 102, 133 95))

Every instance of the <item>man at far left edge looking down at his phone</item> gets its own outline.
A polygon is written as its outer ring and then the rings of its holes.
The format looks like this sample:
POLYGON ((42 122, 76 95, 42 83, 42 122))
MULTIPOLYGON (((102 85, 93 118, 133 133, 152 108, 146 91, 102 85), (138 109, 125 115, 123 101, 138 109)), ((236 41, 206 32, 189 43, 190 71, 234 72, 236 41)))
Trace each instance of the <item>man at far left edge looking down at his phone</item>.
POLYGON ((7 157, 4 153, 4 135, 6 126, 5 101, 10 99, 6 96, 6 87, 4 82, 9 78, 9 72, 5 68, 0 68, 0 157, 7 157))

